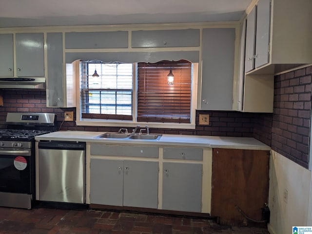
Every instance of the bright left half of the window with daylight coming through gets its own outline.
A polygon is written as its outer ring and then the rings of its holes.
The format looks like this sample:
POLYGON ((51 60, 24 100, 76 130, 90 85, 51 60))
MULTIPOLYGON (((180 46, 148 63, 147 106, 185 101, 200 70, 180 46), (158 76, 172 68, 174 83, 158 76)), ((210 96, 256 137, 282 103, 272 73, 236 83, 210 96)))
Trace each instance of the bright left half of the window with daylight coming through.
POLYGON ((82 118, 132 120, 133 64, 91 61, 81 69, 82 118))

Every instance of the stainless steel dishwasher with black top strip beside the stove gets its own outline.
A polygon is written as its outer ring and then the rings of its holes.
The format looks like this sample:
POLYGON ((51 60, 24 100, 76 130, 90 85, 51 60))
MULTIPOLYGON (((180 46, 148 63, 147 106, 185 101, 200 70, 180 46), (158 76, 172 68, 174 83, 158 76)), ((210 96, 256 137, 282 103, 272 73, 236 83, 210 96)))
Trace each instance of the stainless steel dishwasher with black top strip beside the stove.
POLYGON ((85 143, 38 143, 40 201, 85 202, 85 143))

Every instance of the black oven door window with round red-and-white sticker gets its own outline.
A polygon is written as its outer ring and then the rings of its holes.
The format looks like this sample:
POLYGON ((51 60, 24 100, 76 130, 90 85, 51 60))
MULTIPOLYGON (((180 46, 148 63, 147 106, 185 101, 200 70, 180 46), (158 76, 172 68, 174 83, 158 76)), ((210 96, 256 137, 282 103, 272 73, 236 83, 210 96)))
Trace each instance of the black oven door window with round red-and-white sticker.
POLYGON ((0 155, 0 192, 31 194, 30 156, 0 155))

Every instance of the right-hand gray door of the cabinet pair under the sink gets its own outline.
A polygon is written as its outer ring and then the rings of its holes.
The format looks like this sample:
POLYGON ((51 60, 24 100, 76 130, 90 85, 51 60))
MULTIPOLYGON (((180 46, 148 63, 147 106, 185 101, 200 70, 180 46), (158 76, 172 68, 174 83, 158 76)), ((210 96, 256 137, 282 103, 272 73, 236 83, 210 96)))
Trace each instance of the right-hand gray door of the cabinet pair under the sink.
POLYGON ((124 161, 123 205, 154 208, 158 204, 158 162, 124 161))

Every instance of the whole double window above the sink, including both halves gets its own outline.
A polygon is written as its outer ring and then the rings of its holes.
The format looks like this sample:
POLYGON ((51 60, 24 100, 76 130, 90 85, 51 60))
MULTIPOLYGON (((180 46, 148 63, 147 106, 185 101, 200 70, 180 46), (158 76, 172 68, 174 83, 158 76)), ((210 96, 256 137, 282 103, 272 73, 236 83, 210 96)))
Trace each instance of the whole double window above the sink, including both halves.
POLYGON ((194 124, 193 68, 194 64, 187 60, 80 62, 78 121, 89 121, 87 125, 92 125, 90 121, 97 124, 120 122, 120 126, 133 126, 131 123, 150 126, 151 123, 194 124), (170 70, 174 75, 173 84, 167 80, 170 70))

